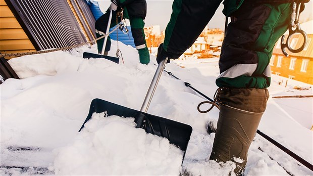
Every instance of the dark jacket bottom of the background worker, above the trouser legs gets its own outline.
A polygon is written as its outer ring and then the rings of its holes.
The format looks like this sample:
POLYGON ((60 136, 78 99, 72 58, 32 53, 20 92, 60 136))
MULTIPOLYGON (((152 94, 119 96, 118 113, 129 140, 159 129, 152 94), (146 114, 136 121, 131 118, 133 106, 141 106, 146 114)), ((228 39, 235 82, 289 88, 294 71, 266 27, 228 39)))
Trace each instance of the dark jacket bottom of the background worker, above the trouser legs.
MULTIPOLYGON (((111 0, 112 2, 114 0, 111 0)), ((145 18, 147 14, 147 3, 145 0, 115 0, 118 6, 124 9, 126 18, 145 18)))

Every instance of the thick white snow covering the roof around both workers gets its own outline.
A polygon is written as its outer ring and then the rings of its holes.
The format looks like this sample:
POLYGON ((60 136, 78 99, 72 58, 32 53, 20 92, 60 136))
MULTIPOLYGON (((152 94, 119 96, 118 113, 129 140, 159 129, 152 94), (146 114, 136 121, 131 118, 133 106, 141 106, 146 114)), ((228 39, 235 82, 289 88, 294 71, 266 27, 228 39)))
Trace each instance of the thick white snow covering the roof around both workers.
MULTIPOLYGON (((200 114, 197 105, 205 99, 184 85, 189 82, 213 98, 218 59, 171 61, 165 70, 181 80, 164 72, 147 111, 192 126, 182 165, 184 151, 165 138, 135 128, 132 117, 93 114, 78 133, 95 98, 135 110, 143 103, 156 69, 155 56, 151 55, 150 64, 142 65, 134 48, 123 43, 119 48, 125 64, 82 58, 83 52, 96 53, 96 46, 9 60, 21 79, 7 79, 0 85, 1 175, 179 175, 188 171, 193 175, 227 175, 233 170, 233 162, 222 167, 208 160, 215 134, 207 134, 206 124, 217 122, 218 109, 200 114), (12 146, 33 150, 12 150, 12 146)), ((109 56, 116 50, 117 42, 113 41, 109 56)), ((312 98, 273 98, 313 95, 312 85, 288 80, 285 87, 278 84, 282 77, 273 75, 272 79, 271 98, 258 129, 312 163, 312 98), (295 90, 295 85, 307 89, 295 90)), ((301 165, 256 135, 244 174, 288 175, 287 170, 294 175, 313 175, 301 165)))

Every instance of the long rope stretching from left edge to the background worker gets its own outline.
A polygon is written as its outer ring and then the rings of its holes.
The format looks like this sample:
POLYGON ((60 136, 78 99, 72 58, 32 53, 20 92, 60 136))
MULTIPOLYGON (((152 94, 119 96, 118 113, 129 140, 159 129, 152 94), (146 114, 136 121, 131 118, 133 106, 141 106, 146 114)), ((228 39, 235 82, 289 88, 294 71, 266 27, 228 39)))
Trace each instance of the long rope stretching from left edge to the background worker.
POLYGON ((42 53, 50 53, 50 52, 55 52, 55 51, 64 51, 64 50, 70 50, 70 49, 74 49, 74 48, 79 48, 81 46, 93 43, 101 38, 106 37, 107 35, 110 35, 112 32, 114 32, 115 30, 117 30, 119 28, 119 25, 117 25, 116 28, 114 28, 111 32, 109 32, 108 34, 105 34, 103 36, 100 36, 99 38, 96 38, 92 41, 87 41, 84 43, 80 43, 77 45, 73 45, 73 46, 69 46, 69 47, 64 47, 64 48, 59 48, 59 49, 47 49, 47 50, 43 50, 43 51, 36 51, 36 52, 25 52, 25 53, 0 53, 1 57, 21 57, 21 56, 26 56, 26 55, 34 55, 34 54, 42 54, 42 53))

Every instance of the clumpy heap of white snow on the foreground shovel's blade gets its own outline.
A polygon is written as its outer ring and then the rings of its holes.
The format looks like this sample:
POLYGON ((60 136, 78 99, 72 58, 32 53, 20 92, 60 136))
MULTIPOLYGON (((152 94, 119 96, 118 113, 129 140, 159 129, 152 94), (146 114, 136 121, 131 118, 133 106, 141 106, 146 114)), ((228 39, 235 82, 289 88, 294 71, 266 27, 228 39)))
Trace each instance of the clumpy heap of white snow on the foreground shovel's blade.
POLYGON ((74 141, 58 149, 55 173, 179 175, 183 151, 134 125, 134 118, 94 113, 74 141))

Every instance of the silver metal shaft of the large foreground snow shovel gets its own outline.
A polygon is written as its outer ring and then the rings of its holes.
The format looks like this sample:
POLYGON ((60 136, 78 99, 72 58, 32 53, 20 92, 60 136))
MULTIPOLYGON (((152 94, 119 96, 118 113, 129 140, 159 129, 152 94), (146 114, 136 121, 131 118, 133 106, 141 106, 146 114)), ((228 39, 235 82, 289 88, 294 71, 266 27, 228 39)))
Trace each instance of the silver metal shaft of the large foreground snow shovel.
POLYGON ((159 63, 158 68, 156 68, 156 71, 154 73, 154 76, 153 76, 153 79, 151 81, 150 87, 149 87, 148 92, 147 92, 147 94, 146 94, 146 96, 144 98, 144 101, 142 103, 142 106, 141 106, 141 109, 140 109, 141 112, 147 112, 148 111, 148 108, 150 106, 150 103, 151 103, 154 91, 156 89, 156 86, 158 85, 158 82, 159 82, 159 80, 161 78, 161 75, 162 75, 162 71, 164 70, 165 64, 166 64, 168 59, 169 58, 166 58, 165 60, 161 61, 159 63))

